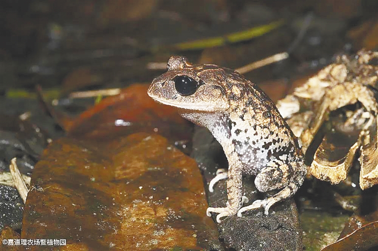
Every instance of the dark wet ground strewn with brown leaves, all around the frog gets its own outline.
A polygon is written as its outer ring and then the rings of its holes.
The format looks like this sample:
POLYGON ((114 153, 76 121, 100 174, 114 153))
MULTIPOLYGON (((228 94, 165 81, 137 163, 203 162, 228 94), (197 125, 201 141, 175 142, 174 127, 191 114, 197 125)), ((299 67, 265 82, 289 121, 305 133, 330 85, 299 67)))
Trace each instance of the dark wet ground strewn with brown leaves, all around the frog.
MULTIPOLYGON (((377 186, 361 191, 357 162, 336 186, 309 177, 269 217, 214 223, 205 211, 225 203, 225 183, 210 194, 206 182, 227 167, 220 146, 146 92, 171 55, 237 69, 287 52, 244 73, 277 102, 338 55, 377 50, 377 8, 373 0, 0 1, 1 239, 66 239, 68 250, 321 250, 339 239, 324 250, 374 250, 377 186), (15 157, 32 176, 25 205, 4 181, 15 157)), ((253 177, 244 183, 261 196, 253 177)))

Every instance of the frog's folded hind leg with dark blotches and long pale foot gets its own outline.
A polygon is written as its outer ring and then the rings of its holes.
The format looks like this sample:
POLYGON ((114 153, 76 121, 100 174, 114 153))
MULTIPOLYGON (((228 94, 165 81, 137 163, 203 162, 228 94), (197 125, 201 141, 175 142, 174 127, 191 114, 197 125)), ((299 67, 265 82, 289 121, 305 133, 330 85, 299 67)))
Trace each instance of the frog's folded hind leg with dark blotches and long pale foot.
POLYGON ((264 167, 256 176, 254 183, 260 192, 267 192, 270 190, 282 190, 269 198, 263 200, 255 200, 251 205, 245 206, 238 211, 238 216, 242 213, 252 209, 264 207, 265 214, 269 214, 269 208, 276 202, 294 195, 307 173, 307 167, 303 161, 290 162, 284 164, 282 161, 273 160, 264 167))

